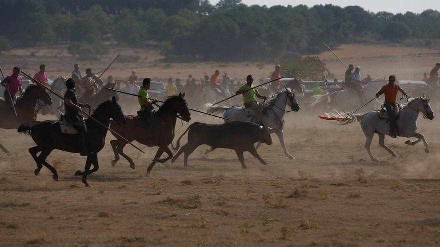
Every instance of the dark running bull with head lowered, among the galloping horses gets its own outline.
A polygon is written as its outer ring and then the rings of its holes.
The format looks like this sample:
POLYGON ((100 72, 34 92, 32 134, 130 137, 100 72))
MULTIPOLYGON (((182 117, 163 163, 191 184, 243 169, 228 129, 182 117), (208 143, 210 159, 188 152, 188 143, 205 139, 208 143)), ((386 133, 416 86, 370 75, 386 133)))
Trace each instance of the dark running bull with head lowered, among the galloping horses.
POLYGON ((172 159, 174 162, 183 152, 184 165, 188 165, 188 156, 200 145, 208 145, 212 150, 216 148, 233 149, 238 156, 242 168, 244 165, 243 152, 247 151, 258 159, 263 165, 267 164, 258 155, 254 143, 262 142, 272 145, 269 132, 260 125, 252 122, 229 121, 224 124, 205 124, 195 122, 178 138, 174 151, 180 146, 180 139, 188 132, 188 142, 183 145, 172 159))

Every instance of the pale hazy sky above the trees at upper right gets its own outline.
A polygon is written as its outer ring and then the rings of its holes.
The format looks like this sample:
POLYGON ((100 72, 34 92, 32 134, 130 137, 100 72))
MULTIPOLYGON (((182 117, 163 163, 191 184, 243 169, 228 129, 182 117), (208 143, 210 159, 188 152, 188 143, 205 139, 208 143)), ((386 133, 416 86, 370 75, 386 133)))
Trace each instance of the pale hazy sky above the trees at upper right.
MULTIPOLYGON (((213 4, 218 0, 210 0, 213 4)), ((420 13, 425 9, 432 8, 440 10, 440 3, 438 0, 242 0, 247 5, 292 5, 305 4, 307 6, 313 6, 315 4, 333 4, 341 7, 348 5, 358 5, 366 10, 373 12, 387 11, 391 13, 405 13, 411 11, 414 13, 420 13)))

